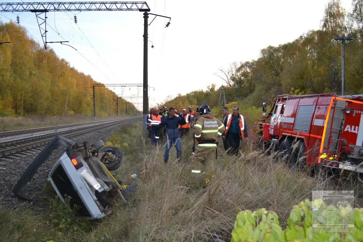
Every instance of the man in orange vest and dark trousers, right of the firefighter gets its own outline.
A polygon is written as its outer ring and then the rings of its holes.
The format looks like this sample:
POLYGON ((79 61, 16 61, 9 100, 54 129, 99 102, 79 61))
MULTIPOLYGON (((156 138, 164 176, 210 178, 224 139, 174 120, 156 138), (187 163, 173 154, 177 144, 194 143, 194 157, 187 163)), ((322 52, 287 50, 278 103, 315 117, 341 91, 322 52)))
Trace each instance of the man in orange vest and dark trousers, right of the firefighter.
POLYGON ((231 146, 230 155, 237 155, 240 149, 240 140, 247 140, 248 132, 244 117, 238 113, 240 108, 237 105, 232 107, 232 114, 227 116, 223 124, 225 126, 223 139, 227 138, 231 146))

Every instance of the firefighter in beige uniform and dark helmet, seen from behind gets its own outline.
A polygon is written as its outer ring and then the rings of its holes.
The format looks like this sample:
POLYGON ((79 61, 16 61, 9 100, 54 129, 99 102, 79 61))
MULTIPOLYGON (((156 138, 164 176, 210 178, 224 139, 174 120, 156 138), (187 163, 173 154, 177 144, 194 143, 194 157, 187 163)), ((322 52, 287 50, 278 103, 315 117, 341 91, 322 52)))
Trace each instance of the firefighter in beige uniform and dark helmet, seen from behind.
POLYGON ((195 153, 192 155, 192 173, 200 173, 204 161, 204 171, 210 172, 210 162, 216 152, 216 140, 224 132, 224 125, 213 117, 207 104, 199 108, 200 117, 194 126, 194 136, 198 140, 195 153))

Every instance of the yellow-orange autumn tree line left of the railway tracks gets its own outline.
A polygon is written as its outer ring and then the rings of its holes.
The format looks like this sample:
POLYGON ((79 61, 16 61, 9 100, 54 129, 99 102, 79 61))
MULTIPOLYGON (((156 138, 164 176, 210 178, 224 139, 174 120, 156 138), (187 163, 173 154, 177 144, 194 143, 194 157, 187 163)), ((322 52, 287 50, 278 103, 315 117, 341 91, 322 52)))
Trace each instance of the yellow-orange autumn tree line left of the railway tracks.
MULTIPOLYGON (((44 49, 13 22, 0 22, 0 116, 93 115, 95 82, 44 49)), ((115 93, 96 87, 96 114, 116 116, 115 93)), ((134 104, 119 98, 119 115, 136 114, 134 104)))

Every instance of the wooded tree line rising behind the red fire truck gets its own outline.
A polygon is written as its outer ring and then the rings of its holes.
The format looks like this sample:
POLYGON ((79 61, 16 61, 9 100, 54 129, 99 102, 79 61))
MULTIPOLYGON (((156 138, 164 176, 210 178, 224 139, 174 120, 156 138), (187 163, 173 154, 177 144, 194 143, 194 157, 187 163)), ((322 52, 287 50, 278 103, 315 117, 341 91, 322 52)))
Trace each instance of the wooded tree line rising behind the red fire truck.
MULTIPOLYGON (((268 46, 257 60, 234 62, 216 71, 226 87, 227 102, 261 106, 281 94, 341 94, 341 44, 336 36, 355 38, 345 44, 346 94, 363 94, 363 0, 352 0, 346 12, 339 0, 327 3, 321 28, 302 34, 293 42, 268 46)), ((218 105, 219 87, 192 91, 165 101, 169 106, 218 105)), ((167 105, 167 106, 168 106, 167 105)))

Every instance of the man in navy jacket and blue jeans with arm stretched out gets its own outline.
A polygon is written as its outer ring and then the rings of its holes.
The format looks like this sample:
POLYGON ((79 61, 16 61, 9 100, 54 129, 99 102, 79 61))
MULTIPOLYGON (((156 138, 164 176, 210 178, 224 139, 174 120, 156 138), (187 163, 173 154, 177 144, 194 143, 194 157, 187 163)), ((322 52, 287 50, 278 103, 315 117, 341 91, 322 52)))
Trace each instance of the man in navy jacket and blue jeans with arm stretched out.
POLYGON ((176 157, 179 159, 181 157, 181 140, 179 138, 179 124, 184 125, 185 119, 183 114, 180 116, 175 116, 175 108, 169 108, 169 115, 162 119, 160 124, 148 124, 152 129, 159 129, 166 126, 166 146, 164 152, 164 163, 168 162, 169 150, 174 144, 176 149, 176 157))

